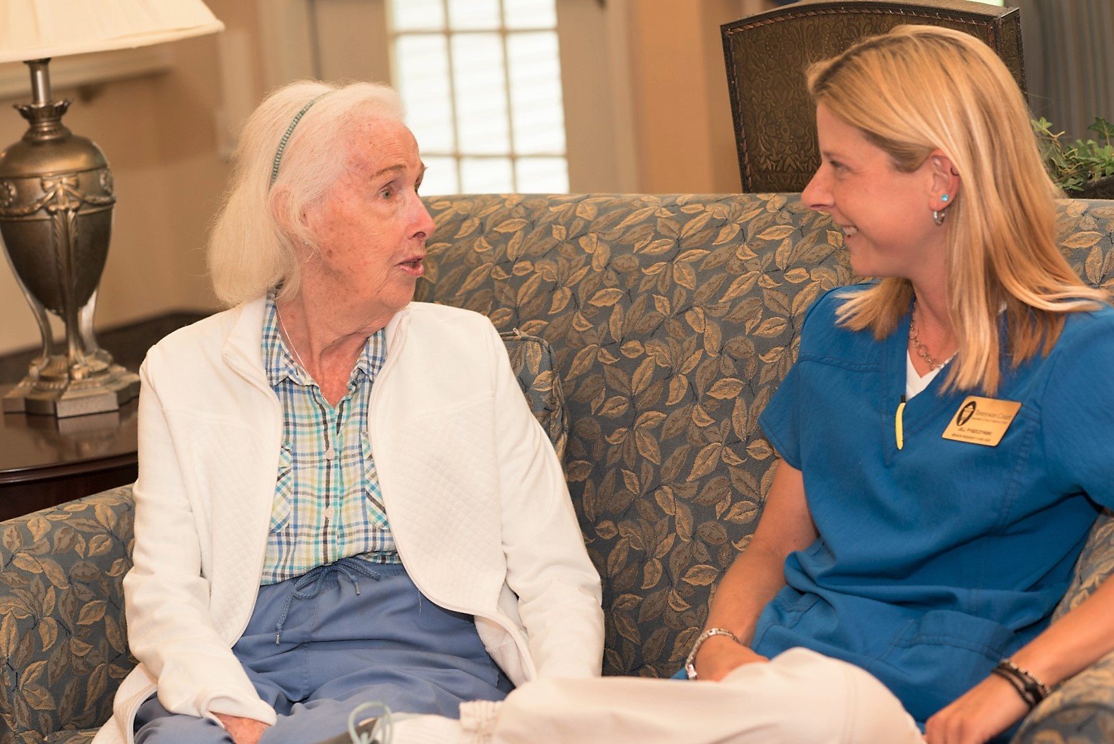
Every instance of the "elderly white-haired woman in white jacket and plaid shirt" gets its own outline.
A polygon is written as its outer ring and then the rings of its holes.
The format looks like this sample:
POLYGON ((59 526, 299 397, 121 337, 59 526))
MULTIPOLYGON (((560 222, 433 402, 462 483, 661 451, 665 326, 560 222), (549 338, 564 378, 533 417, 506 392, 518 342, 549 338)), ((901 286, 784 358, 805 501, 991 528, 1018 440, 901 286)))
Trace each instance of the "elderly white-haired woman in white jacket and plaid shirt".
POLYGON ((248 120, 209 247, 234 306, 141 369, 139 666, 97 742, 317 742, 599 674, 599 578, 483 317, 411 302, 433 223, 389 88, 248 120))

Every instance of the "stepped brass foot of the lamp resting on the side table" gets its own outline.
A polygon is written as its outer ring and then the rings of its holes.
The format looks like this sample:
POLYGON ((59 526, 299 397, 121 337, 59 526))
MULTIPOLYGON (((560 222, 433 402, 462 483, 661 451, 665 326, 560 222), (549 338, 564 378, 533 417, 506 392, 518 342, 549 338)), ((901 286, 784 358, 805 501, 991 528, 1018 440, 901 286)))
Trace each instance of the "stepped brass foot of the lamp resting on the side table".
POLYGON ((139 375, 110 365, 92 379, 43 383, 31 376, 2 398, 4 413, 28 413, 57 418, 118 410, 139 395, 139 375))

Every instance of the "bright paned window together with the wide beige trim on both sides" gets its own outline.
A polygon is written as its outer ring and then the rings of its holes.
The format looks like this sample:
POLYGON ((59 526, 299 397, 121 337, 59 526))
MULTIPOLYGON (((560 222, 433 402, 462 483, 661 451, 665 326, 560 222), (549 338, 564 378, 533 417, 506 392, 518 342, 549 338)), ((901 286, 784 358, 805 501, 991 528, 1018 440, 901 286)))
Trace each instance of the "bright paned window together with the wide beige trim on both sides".
MULTIPOLYGON (((418 135, 422 158, 430 157, 422 193, 639 192, 644 189, 631 50, 631 6, 639 1, 265 0, 257 6, 263 90, 305 77, 391 81, 407 100, 407 123, 418 135), (457 67, 452 38, 483 35, 500 41, 488 47, 499 69, 481 74, 476 57, 465 57, 463 68, 457 67), (422 42, 436 58, 412 59, 395 49, 422 42), (458 142, 462 131, 456 102, 466 91, 453 80, 463 77, 471 84, 473 74, 497 80, 501 97, 488 102, 498 106, 498 116, 481 117, 469 132, 498 119, 506 144, 500 152, 472 152, 458 142), (472 177, 481 161, 501 168, 500 183, 472 177)), ((250 74, 250 61, 229 60, 223 65, 229 80, 250 74)), ((254 95, 238 95, 226 103, 250 112, 256 100, 254 95)), ((238 126, 231 132, 234 138, 238 126)))

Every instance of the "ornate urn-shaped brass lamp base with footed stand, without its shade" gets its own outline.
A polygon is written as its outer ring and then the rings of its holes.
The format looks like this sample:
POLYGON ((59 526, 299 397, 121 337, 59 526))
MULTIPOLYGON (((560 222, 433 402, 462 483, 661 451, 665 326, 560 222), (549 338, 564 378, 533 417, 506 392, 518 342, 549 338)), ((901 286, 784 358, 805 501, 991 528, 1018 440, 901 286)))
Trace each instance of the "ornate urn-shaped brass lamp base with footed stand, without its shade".
POLYGON ((139 394, 139 377, 114 364, 94 337, 113 174, 94 143, 62 125, 69 102, 52 100, 48 61, 27 62, 33 102, 17 108, 30 127, 0 151, 0 243, 42 337, 42 352, 2 407, 67 418, 119 409, 139 394), (48 313, 66 327, 65 348, 48 313))

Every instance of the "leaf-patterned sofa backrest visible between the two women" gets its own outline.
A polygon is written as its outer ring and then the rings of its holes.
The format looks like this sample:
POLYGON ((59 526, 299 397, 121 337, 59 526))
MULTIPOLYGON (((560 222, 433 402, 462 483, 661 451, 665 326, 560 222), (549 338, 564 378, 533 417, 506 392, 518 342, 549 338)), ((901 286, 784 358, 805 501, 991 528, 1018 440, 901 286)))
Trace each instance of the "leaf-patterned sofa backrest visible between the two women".
POLYGON ((794 196, 430 197, 420 299, 554 347, 565 457, 604 580, 605 674, 668 676, 762 509, 758 414, 801 316, 851 281, 794 196))

